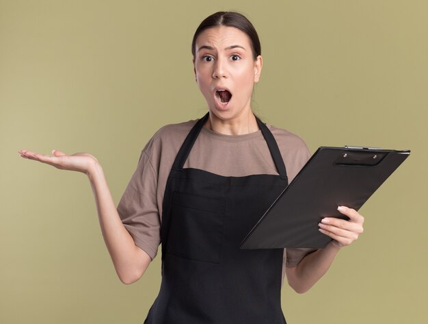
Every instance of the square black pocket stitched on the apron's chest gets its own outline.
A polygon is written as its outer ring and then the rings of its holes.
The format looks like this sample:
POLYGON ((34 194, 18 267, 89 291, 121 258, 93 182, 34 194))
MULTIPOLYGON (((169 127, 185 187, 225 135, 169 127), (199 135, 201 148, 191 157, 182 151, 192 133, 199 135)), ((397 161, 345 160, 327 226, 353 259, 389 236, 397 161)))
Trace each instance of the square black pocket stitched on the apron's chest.
POLYGON ((167 252, 191 260, 219 263, 224 199, 174 191, 167 252))

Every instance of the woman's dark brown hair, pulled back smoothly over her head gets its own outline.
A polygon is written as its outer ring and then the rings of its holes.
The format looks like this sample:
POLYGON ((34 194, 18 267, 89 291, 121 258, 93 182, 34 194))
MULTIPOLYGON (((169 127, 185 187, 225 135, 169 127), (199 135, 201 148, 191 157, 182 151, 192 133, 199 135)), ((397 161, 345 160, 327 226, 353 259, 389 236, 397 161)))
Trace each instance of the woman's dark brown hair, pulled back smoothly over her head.
POLYGON ((235 27, 241 30, 241 32, 244 32, 248 38, 250 38, 254 60, 256 60, 257 56, 261 54, 260 40, 258 39, 256 29, 248 20, 248 18, 239 12, 219 11, 215 12, 215 14, 211 14, 211 16, 206 17, 196 29, 191 42, 191 53, 193 54, 193 58, 196 55, 196 38, 198 38, 199 34, 202 33, 205 29, 218 26, 235 27))

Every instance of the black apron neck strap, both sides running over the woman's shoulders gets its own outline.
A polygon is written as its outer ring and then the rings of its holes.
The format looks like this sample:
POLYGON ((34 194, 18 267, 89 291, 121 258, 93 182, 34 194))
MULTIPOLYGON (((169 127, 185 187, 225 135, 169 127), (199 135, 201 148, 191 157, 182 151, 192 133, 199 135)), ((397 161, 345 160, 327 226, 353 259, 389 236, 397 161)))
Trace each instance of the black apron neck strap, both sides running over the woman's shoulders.
MULTIPOLYGON (((282 179, 287 179, 286 176, 286 169, 284 160, 282 160, 280 149, 278 148, 278 144, 276 143, 275 138, 273 137, 271 131, 269 131, 269 128, 258 119, 256 115, 256 121, 258 124, 258 127, 260 127, 260 130, 262 131, 263 137, 265 138, 267 142, 267 147, 269 148, 269 151, 272 155, 273 162, 275 163, 276 170, 278 171, 279 175, 282 177, 282 179)), ((174 164, 172 164, 172 169, 174 170, 180 170, 183 169, 183 166, 189 157, 189 153, 191 148, 193 147, 193 144, 196 141, 196 138, 198 138, 198 135, 204 127, 204 124, 206 120, 209 117, 209 112, 205 114, 199 121, 196 122, 196 124, 192 127, 189 134, 187 134, 187 137, 185 141, 183 142, 183 145, 181 145, 180 150, 177 153, 177 156, 174 160, 174 164)))

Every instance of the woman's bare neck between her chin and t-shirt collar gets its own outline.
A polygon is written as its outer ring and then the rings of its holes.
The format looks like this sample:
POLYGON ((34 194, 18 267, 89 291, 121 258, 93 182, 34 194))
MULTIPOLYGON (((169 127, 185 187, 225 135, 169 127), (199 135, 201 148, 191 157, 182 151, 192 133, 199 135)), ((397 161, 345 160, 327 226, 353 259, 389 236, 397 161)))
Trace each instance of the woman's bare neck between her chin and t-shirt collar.
POLYGON ((210 112, 209 119, 205 127, 219 134, 225 135, 243 135, 258 131, 256 117, 250 110, 248 114, 237 116, 234 119, 219 119, 215 114, 210 112))

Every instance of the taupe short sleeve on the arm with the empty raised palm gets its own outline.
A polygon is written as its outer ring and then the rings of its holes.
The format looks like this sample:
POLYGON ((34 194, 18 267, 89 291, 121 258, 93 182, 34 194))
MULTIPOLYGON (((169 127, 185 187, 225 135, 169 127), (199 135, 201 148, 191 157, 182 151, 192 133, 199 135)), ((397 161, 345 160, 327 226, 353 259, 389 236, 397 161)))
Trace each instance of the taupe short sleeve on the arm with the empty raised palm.
POLYGON ((157 173, 144 150, 117 210, 135 245, 153 260, 161 242, 161 220, 157 208, 157 173))

